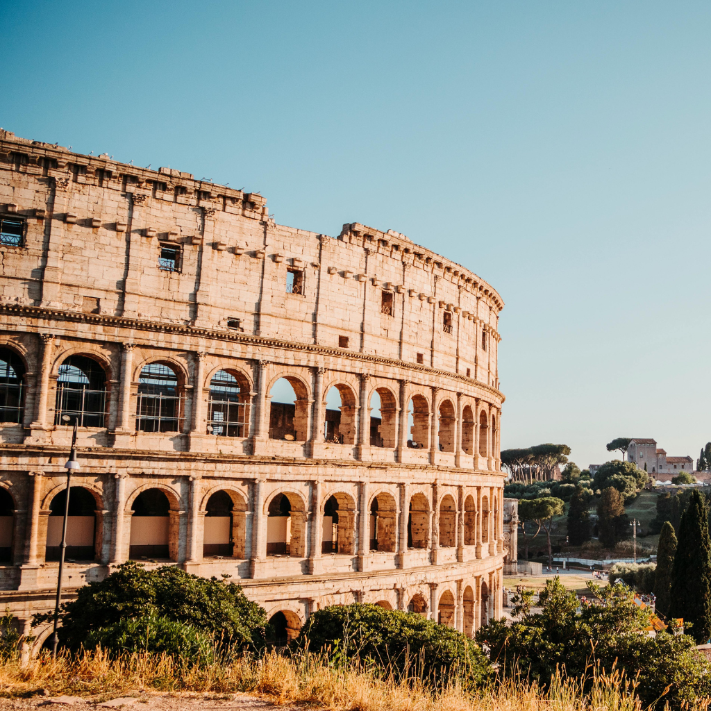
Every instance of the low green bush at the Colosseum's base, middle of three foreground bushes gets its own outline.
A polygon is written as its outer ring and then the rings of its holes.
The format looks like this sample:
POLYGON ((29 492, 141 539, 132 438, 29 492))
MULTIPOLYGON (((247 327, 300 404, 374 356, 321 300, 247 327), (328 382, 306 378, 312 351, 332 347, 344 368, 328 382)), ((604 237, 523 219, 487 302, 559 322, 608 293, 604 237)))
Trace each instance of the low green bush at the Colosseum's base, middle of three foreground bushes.
POLYGON ((386 610, 378 605, 337 605, 317 610, 301 629, 295 644, 314 651, 331 648, 343 658, 358 656, 387 672, 420 674, 430 683, 450 675, 479 685, 491 673, 481 649, 461 632, 414 612, 386 610))

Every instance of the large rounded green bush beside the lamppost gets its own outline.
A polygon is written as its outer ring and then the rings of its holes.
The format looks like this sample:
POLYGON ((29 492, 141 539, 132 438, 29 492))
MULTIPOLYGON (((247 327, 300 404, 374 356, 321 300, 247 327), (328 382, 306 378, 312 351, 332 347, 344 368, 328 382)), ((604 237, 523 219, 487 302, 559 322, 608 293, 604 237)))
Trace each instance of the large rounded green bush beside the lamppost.
MULTIPOLYGON (((35 615, 33 625, 50 619, 51 614, 35 615)), ((132 644, 145 648, 140 640, 129 641, 130 634, 145 631, 159 644, 169 644, 172 635, 170 644, 183 646, 192 640, 190 644, 200 646, 202 638, 193 635, 200 630, 220 646, 260 646, 267 626, 264 610, 247 600, 235 583, 192 575, 174 565, 145 570, 135 562, 81 587, 76 600, 63 604, 61 619, 60 642, 73 650, 95 638, 112 650, 132 644), (170 628, 169 621, 190 629, 170 628), (183 641, 178 641, 181 635, 183 641)))

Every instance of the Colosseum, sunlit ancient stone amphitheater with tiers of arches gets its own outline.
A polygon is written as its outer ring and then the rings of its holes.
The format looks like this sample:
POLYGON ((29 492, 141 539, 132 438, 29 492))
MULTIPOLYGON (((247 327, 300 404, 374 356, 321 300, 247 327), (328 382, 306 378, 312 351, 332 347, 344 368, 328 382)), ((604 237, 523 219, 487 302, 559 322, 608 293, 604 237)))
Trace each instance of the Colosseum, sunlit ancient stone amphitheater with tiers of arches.
POLYGON ((501 614, 501 297, 266 202, 0 130, 0 605, 26 630, 74 422, 65 599, 139 560, 231 576, 279 639, 357 601, 469 636, 501 614))

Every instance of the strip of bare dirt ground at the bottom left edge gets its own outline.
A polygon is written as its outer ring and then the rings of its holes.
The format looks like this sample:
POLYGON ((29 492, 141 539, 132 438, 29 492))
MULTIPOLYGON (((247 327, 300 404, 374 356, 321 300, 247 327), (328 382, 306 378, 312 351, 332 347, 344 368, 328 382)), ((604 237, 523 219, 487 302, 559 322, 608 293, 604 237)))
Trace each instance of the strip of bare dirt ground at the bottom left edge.
POLYGON ((119 698, 33 696, 27 699, 0 699, 0 711, 269 711, 274 704, 246 694, 161 694, 137 692, 119 698))

